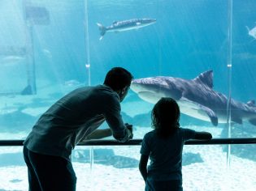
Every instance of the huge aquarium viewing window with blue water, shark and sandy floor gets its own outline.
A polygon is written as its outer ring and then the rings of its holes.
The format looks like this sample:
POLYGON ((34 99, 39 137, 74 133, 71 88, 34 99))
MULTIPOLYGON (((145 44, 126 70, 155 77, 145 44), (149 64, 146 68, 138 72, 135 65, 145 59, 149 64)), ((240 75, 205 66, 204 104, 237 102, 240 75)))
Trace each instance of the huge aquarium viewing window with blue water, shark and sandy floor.
POLYGON ((186 142, 184 190, 254 190, 255 4, 2 0, 0 190, 28 190, 22 142, 41 114, 68 92, 103 83, 115 66, 134 76, 121 104, 134 138, 76 146, 77 190, 144 189, 141 139, 162 96, 177 100, 180 126, 214 138, 186 142))

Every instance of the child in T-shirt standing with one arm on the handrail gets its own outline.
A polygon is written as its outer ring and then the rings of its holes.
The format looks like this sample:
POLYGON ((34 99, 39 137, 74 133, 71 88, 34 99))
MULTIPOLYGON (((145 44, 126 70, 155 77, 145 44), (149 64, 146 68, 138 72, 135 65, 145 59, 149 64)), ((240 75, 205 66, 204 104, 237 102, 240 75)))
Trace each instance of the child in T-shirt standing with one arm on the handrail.
POLYGON ((182 150, 189 139, 210 139, 210 133, 180 128, 180 108, 175 100, 162 98, 151 113, 154 130, 145 134, 139 169, 145 190, 182 189, 182 150), (150 157, 150 165, 147 162, 150 157))

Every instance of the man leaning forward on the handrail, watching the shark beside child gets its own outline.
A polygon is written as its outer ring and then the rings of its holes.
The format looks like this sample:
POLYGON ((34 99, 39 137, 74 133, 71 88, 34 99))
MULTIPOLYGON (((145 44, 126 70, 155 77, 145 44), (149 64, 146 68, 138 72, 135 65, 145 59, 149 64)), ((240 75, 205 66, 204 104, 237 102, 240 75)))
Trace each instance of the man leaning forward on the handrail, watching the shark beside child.
POLYGON ((132 138, 132 125, 124 124, 120 115, 131 82, 128 70, 115 67, 103 85, 80 87, 42 114, 24 141, 29 190, 76 190, 70 158, 78 142, 111 135, 119 142, 132 138), (104 121, 110 129, 98 129, 104 121))

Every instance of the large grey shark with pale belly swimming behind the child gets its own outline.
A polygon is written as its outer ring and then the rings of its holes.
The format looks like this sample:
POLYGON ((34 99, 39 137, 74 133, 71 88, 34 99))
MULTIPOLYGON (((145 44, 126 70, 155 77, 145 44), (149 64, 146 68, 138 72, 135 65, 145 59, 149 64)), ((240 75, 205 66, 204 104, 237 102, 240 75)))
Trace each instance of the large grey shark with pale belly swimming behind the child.
MULTIPOLYGON (((161 97, 171 97, 180 105, 180 112, 213 125, 227 122, 228 98, 213 90, 213 71, 199 74, 195 79, 151 77, 134 79, 131 85, 142 100, 155 104, 161 97)), ((254 100, 246 104, 230 99, 231 121, 242 124, 243 120, 256 125, 254 100)))

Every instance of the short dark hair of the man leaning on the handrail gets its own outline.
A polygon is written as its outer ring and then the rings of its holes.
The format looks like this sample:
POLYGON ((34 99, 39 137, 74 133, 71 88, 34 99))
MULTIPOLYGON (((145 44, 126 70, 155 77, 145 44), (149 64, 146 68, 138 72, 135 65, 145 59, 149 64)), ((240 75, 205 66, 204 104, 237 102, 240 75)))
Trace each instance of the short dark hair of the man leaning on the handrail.
POLYGON ((133 76, 128 70, 122 67, 115 67, 107 72, 104 84, 111 87, 114 91, 119 91, 124 89, 124 87, 129 87, 132 79, 133 76))

